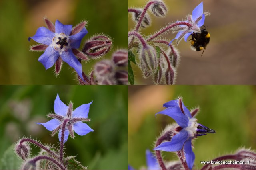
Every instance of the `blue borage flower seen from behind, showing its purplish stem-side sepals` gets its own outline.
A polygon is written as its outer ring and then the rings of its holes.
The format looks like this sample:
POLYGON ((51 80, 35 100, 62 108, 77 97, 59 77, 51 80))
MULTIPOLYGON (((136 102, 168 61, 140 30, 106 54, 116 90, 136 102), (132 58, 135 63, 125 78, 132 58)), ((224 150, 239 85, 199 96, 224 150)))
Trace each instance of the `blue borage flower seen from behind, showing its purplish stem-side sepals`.
POLYGON ((57 94, 54 101, 54 112, 56 114, 49 114, 48 117, 54 118, 46 123, 36 123, 38 125, 43 125, 48 131, 52 131, 52 135, 59 131, 59 140, 61 141, 62 127, 65 127, 64 131, 64 143, 68 140, 68 135, 74 138, 74 132, 78 135, 86 135, 89 132, 93 132, 86 123, 82 121, 90 121, 88 118, 88 113, 90 109, 90 104, 83 104, 73 111, 73 104, 70 103, 66 106, 57 94))

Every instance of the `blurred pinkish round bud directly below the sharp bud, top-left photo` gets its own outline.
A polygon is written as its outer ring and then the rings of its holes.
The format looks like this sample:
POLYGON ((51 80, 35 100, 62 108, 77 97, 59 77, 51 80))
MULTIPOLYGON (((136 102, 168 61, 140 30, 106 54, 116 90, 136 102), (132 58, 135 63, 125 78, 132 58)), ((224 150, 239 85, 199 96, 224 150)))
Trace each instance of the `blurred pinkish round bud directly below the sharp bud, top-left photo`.
POLYGON ((94 73, 97 78, 108 78, 114 75, 114 64, 110 60, 102 60, 95 64, 94 73))

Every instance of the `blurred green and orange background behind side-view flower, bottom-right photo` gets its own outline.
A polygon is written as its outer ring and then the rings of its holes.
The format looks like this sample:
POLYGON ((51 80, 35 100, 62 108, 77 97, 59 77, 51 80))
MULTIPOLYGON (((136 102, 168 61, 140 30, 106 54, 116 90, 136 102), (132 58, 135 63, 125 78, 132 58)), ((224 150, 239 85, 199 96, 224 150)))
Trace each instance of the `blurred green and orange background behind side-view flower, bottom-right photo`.
MULTIPOLYGON (((178 96, 188 109, 200 106, 198 123, 217 131, 194 141, 194 169, 202 168, 201 160, 212 160, 239 147, 256 149, 255 86, 129 86, 128 164, 146 166, 146 149, 152 151, 162 129, 174 122, 166 115, 155 117, 155 113, 178 96)), ((163 153, 165 160, 178 160, 174 152, 163 153)))

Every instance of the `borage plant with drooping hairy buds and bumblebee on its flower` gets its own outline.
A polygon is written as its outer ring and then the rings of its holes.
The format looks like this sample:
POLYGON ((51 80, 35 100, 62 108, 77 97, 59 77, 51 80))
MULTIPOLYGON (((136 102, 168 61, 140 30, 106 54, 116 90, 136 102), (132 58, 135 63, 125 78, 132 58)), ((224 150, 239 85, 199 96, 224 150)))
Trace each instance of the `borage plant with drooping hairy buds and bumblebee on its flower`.
MULTIPOLYGON (((176 70, 180 61, 180 54, 172 41, 177 39, 178 44, 182 38, 187 41, 192 35, 192 49, 196 51, 203 50, 210 40, 210 34, 202 37, 200 27, 204 24, 204 19, 210 13, 203 11, 203 2, 194 8, 192 15, 188 15, 185 21, 176 21, 168 23, 166 27, 155 33, 144 36, 141 29, 151 24, 148 10, 156 17, 164 17, 167 13, 167 7, 163 0, 150 0, 142 8, 129 8, 134 20, 134 29, 128 32, 128 78, 130 84, 134 84, 134 74, 131 63, 139 66, 144 78, 152 77, 154 84, 174 84, 176 79, 176 70), (172 31, 176 37, 172 41, 162 38, 164 33, 172 31), (207 38, 207 39, 206 39, 207 38), (197 41, 199 40, 200 41, 197 41), (201 42, 202 40, 202 42, 201 42)), ((207 32, 208 33, 208 32, 207 32)))

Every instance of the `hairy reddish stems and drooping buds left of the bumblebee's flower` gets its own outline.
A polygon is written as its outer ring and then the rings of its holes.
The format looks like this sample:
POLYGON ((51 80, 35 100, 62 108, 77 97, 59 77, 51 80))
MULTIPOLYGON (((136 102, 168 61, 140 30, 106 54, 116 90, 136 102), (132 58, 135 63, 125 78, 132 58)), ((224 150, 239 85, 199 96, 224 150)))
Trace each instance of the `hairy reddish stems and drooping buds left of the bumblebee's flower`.
MULTIPOLYGON (((140 59, 140 68, 142 70, 142 73, 144 75, 144 78, 147 78, 148 76, 152 75, 154 73, 154 82, 156 84, 160 84, 161 80, 164 79, 164 84, 174 84, 175 82, 175 69, 178 66, 178 61, 179 61, 179 53, 178 51, 172 46, 169 45, 168 41, 164 41, 164 40, 160 40, 157 39, 156 41, 152 41, 154 40, 156 37, 160 36, 162 33, 171 30, 172 27, 176 27, 179 25, 186 25, 186 26, 191 26, 191 24, 187 23, 187 22, 179 22, 179 23, 173 23, 172 25, 168 25, 168 27, 166 27, 163 30, 158 31, 156 34, 151 35, 151 37, 149 38, 144 38, 143 35, 141 35, 140 33, 138 33, 139 28, 143 25, 145 25, 145 23, 148 23, 146 25, 149 25, 149 16, 147 16, 147 10, 150 9, 152 10, 152 13, 156 16, 165 16, 166 12, 167 12, 167 7, 164 4, 164 2, 162 0, 152 0, 149 1, 146 6, 144 7, 143 10, 138 10, 135 8, 129 8, 128 12, 133 12, 134 14, 137 14, 137 18, 138 16, 140 17, 139 19, 137 19, 137 24, 136 24, 136 28, 134 29, 134 31, 130 31, 128 32, 128 46, 129 49, 132 49, 134 47, 138 47, 137 45, 141 45, 142 52, 145 51, 143 49, 155 49, 156 47, 158 47, 156 44, 157 43, 162 43, 165 44, 167 46, 169 46, 170 48, 170 52, 169 52, 169 56, 166 55, 166 52, 164 49, 160 48, 160 51, 157 51, 157 55, 156 52, 154 53, 142 53, 140 52, 139 55, 139 59, 140 59), (151 6, 151 9, 150 9, 151 6), (144 22, 144 24, 142 24, 144 22), (130 38, 132 36, 132 38, 130 38), (151 46, 148 46, 147 43, 150 43, 151 46), (149 47, 149 48, 148 48, 149 47), (145 54, 145 55, 143 55, 145 54), (154 55, 152 55, 154 54, 154 55), (162 62, 161 62, 162 61, 162 62), (162 68, 162 64, 166 64, 167 68, 162 68), (157 68, 158 67, 158 68, 157 68), (156 69, 157 68, 157 69, 156 69), (162 76, 164 75, 164 76, 162 76)), ((159 47, 158 47, 159 49, 159 47)))

